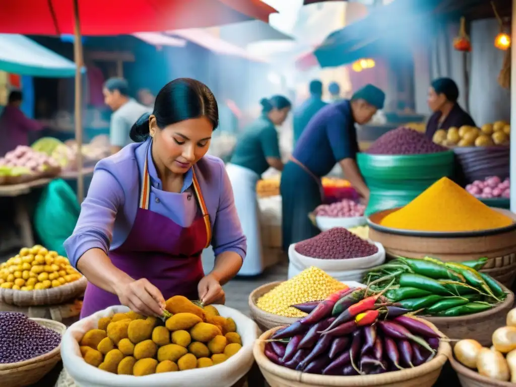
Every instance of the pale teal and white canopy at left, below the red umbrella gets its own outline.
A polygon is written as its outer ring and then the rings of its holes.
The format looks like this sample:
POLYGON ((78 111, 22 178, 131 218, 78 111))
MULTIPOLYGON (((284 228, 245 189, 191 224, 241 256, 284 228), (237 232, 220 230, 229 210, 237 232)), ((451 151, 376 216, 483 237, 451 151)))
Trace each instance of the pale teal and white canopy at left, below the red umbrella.
POLYGON ((0 70, 37 77, 75 76, 75 63, 23 35, 0 34, 0 70))

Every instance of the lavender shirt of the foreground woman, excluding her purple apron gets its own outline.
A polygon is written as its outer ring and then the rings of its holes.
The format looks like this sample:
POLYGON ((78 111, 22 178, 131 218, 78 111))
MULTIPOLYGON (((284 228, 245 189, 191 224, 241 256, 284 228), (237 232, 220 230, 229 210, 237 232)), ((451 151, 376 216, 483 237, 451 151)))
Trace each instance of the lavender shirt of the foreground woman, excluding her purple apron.
MULTIPOLYGON (((151 141, 129 144, 96 165, 75 230, 65 241, 73 266, 76 267, 79 258, 90 249, 99 248, 107 254, 124 243, 136 218, 146 157, 151 181, 150 211, 183 227, 189 227, 196 218, 200 209, 192 187, 191 168, 185 174, 181 192, 163 191, 152 161, 151 141)), ((193 168, 211 221, 215 255, 234 251, 244 259, 246 237, 236 214, 233 189, 222 160, 206 155, 193 168)))

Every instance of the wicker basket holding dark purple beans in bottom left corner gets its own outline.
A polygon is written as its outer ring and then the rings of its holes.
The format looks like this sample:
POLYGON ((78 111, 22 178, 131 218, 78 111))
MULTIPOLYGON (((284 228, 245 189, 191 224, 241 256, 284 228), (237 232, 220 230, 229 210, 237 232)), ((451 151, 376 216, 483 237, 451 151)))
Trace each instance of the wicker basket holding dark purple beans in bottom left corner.
MULTIPOLYGON (((31 320, 45 328, 53 329, 61 335, 66 331, 66 326, 57 321, 44 318, 31 318, 31 320)), ((34 384, 49 373, 59 360, 61 360, 61 345, 34 359, 19 363, 0 364, 1 384, 10 387, 34 384)))

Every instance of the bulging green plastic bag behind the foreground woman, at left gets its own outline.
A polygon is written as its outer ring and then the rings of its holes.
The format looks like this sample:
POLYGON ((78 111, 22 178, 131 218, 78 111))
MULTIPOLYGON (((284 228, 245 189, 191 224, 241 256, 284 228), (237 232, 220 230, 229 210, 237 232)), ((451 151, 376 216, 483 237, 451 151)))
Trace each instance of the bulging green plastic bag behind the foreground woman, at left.
POLYGON ((79 213, 80 205, 68 183, 62 179, 50 182, 34 215, 34 227, 43 246, 67 256, 63 243, 72 235, 79 213))

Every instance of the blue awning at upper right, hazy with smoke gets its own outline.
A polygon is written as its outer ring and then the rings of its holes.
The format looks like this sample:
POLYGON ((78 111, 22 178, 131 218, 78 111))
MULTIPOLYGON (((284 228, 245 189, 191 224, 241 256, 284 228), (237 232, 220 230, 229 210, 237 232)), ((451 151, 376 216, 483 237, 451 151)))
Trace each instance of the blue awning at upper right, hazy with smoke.
MULTIPOLYGON (((495 1, 498 13, 510 14, 510 3, 495 1)), ((382 40, 396 34, 412 34, 432 20, 464 16, 467 20, 494 17, 486 0, 394 0, 373 8, 370 14, 345 28, 334 31, 314 51, 321 67, 351 63, 363 57, 381 55, 387 47, 382 40), (413 28, 413 29, 411 29, 413 28)), ((391 46, 392 47, 392 46, 391 46)))

